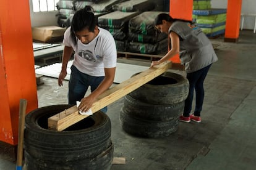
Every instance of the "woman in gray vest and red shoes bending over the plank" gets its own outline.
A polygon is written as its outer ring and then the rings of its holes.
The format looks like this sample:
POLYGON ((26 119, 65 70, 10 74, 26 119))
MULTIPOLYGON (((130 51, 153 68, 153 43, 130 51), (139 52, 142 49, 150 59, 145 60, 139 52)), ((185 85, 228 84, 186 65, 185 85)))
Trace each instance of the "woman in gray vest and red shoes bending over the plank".
POLYGON ((203 81, 211 64, 218 60, 213 46, 203 31, 189 21, 174 19, 163 13, 155 18, 155 26, 161 32, 169 34, 171 50, 160 60, 153 61, 151 67, 180 54, 181 64, 185 66, 189 80, 189 95, 185 100, 183 115, 179 120, 186 123, 189 123, 190 120, 200 123, 204 98, 203 81), (190 115, 194 89, 195 110, 190 115))

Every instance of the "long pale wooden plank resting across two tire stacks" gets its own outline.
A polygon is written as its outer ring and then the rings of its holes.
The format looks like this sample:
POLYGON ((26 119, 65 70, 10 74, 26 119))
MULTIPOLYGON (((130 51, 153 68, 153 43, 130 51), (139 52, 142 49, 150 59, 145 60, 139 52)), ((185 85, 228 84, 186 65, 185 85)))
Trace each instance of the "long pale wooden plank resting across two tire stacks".
MULTIPOLYGON (((153 68, 148 68, 138 75, 135 75, 132 78, 127 79, 126 81, 117 84, 111 89, 103 92, 98 97, 96 102, 93 103, 91 108, 92 113, 101 110, 101 108, 108 106, 116 100, 121 99, 121 97, 124 97, 124 95, 129 94, 129 92, 132 92, 143 84, 148 83, 148 81, 151 79, 156 78, 171 68, 171 65, 172 62, 167 61, 153 68)), ((48 118, 48 128, 57 131, 63 131, 67 127, 79 122, 84 118, 87 118, 87 115, 80 115, 77 107, 73 106, 48 118)))

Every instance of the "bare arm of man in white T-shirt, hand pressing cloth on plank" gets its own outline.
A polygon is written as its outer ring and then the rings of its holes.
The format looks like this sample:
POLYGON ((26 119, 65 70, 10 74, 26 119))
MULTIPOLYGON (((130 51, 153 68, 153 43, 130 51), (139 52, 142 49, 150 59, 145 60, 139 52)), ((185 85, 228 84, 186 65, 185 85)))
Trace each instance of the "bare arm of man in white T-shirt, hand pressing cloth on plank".
POLYGON ((109 87, 113 84, 114 82, 114 75, 116 73, 116 67, 113 68, 105 68, 105 78, 101 82, 101 84, 93 91, 90 95, 87 97, 83 98, 81 100, 81 103, 79 105, 79 110, 81 111, 88 111, 91 107, 93 102, 97 99, 97 97, 109 89, 109 87))

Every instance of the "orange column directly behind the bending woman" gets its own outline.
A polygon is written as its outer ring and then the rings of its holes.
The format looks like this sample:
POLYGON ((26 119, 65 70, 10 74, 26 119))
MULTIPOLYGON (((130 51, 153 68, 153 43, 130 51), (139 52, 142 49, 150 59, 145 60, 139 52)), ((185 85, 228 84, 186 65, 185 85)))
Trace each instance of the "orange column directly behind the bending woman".
MULTIPOLYGON (((170 0, 169 14, 173 18, 182 20, 192 20, 193 0, 170 0)), ((171 61, 173 63, 181 63, 179 55, 174 56, 171 61)))

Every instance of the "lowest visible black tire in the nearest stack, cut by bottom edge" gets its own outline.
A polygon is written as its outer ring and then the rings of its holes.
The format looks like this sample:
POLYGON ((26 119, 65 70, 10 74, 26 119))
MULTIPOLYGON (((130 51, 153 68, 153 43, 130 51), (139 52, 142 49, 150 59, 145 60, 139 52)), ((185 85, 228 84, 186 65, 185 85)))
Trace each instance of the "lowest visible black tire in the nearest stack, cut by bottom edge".
POLYGON ((111 169, 114 155, 114 147, 113 144, 109 145, 109 147, 103 151, 100 155, 96 156, 92 159, 87 160, 77 160, 77 161, 62 161, 56 162, 54 160, 45 161, 34 156, 31 156, 29 153, 24 152, 25 163, 24 169, 36 169, 36 170, 109 170, 111 169))

